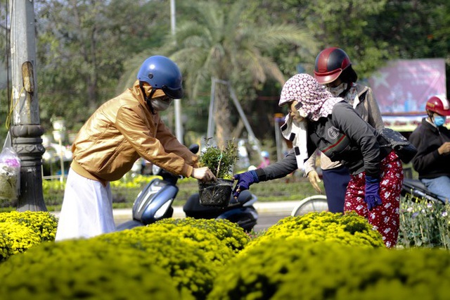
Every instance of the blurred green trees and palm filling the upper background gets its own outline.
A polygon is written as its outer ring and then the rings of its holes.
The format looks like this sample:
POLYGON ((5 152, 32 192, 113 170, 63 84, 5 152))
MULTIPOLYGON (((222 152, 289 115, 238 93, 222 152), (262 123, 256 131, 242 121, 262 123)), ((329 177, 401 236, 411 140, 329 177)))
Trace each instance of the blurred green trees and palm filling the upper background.
MULTIPOLYGON (((2 122, 10 98, 2 77, 7 4, 0 0, 2 122)), ((446 0, 176 1, 175 36, 169 0, 36 0, 34 6, 39 110, 49 131, 51 120, 63 117, 76 132, 155 54, 171 56, 183 69, 184 132, 194 137, 206 133, 212 77, 231 82, 255 135, 274 139, 283 80, 312 73, 316 54, 327 46, 345 49, 361 80, 395 58, 439 57, 450 66, 446 0)), ((238 116, 227 91, 216 92, 217 132, 228 135, 239 126, 238 116)), ((173 125, 173 112, 165 118, 173 125)), ((0 139, 5 132, 1 126, 0 139)))

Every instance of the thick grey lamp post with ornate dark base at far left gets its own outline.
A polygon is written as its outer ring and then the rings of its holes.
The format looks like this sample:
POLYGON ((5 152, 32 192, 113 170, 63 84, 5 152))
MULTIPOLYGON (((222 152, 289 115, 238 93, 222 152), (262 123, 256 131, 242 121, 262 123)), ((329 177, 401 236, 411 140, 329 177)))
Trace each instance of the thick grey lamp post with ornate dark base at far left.
POLYGON ((46 211, 42 193, 44 129, 39 120, 36 85, 34 2, 9 1, 11 8, 11 71, 14 115, 13 149, 20 158, 18 211, 46 211))

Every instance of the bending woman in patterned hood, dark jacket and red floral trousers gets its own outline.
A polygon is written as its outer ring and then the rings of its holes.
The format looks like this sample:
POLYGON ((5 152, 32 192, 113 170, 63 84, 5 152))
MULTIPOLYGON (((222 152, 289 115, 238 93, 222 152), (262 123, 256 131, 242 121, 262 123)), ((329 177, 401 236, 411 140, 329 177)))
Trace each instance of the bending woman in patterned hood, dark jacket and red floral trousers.
POLYGON ((389 143, 352 106, 333 97, 310 75, 291 77, 283 86, 280 104, 289 106, 281 130, 293 141, 293 151, 266 168, 234 175, 238 180, 235 196, 252 183, 284 177, 301 168, 311 150, 319 149, 349 169, 344 212, 356 211, 367 218, 385 245, 394 246, 403 170, 389 143))

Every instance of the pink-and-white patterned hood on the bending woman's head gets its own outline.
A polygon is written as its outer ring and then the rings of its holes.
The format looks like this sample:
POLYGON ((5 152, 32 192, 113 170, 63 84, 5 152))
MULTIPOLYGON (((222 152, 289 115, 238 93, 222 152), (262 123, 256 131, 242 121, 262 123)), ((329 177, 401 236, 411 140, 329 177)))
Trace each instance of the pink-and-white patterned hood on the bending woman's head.
POLYGON ((311 75, 296 74, 283 85, 278 105, 294 100, 299 103, 296 108, 302 117, 316 121, 330 115, 333 106, 344 99, 333 97, 311 75))

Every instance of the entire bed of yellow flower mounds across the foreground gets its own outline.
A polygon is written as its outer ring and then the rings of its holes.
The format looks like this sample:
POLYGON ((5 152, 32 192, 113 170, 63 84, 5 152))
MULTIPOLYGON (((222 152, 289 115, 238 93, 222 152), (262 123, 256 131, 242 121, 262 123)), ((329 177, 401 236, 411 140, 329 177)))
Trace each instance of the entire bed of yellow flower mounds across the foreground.
POLYGON ((0 242, 32 245, 1 263, 1 299, 449 299, 449 251, 386 249, 356 214, 285 218, 250 242, 226 220, 57 243, 49 213, 0 220, 0 242))

